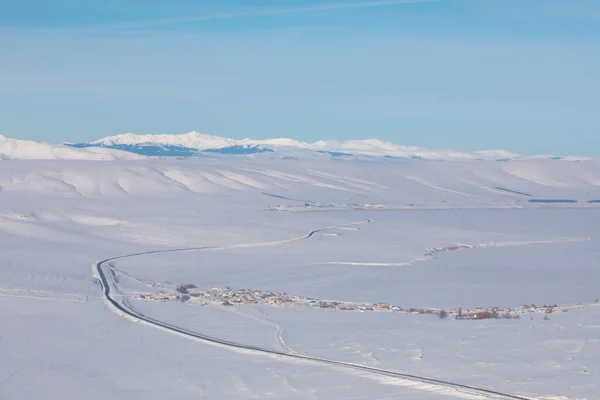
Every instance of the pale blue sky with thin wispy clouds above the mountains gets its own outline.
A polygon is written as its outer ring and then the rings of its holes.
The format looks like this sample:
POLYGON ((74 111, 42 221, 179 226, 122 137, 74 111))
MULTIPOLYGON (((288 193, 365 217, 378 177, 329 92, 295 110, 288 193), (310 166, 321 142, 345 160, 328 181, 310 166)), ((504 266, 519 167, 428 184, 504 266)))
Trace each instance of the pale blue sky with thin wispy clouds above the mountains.
POLYGON ((597 0, 0 0, 0 134, 600 156, 597 0))

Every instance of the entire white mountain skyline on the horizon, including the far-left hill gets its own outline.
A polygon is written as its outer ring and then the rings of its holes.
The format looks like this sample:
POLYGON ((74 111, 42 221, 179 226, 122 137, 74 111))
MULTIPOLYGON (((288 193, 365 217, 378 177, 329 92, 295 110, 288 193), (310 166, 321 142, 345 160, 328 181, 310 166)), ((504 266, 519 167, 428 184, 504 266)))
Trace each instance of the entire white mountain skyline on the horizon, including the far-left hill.
POLYGON ((198 132, 186 134, 137 135, 124 133, 89 143, 49 144, 10 139, 0 135, 0 160, 90 159, 122 160, 144 157, 189 157, 216 154, 272 153, 280 157, 391 158, 424 160, 489 160, 552 158, 583 160, 585 157, 521 156, 503 150, 460 152, 403 146, 378 139, 321 140, 314 143, 294 139, 231 139, 198 132))

